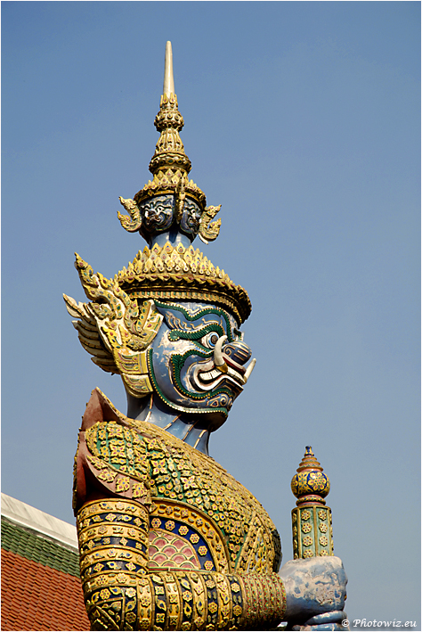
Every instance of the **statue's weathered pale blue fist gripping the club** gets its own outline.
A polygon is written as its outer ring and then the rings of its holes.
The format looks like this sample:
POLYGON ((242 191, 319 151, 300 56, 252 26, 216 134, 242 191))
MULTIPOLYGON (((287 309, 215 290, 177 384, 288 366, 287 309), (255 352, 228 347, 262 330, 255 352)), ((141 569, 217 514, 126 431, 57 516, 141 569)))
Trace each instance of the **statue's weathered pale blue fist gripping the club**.
POLYGON ((286 587, 285 619, 290 629, 347 629, 342 626, 347 576, 338 557, 287 562, 280 577, 286 587))

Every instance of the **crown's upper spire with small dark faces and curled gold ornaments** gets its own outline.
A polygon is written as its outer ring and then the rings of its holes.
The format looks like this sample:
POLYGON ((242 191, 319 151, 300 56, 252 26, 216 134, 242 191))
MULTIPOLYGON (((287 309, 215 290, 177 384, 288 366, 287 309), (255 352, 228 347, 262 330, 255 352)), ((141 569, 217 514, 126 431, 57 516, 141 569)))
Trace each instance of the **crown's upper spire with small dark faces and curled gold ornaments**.
POLYGON ((150 247, 157 234, 165 233, 170 228, 173 234, 180 232, 189 237, 191 242, 197 235, 205 243, 213 242, 220 232, 221 220, 212 219, 220 206, 207 207, 205 193, 189 179, 191 160, 184 151, 179 134, 184 120, 174 93, 173 52, 170 42, 166 43, 163 94, 154 125, 160 136, 150 160, 152 181, 149 180, 134 195, 133 200, 119 198, 129 213, 118 213, 121 225, 129 233, 139 231, 150 247), (168 208, 168 204, 166 207, 163 196, 173 196, 172 209, 168 208))

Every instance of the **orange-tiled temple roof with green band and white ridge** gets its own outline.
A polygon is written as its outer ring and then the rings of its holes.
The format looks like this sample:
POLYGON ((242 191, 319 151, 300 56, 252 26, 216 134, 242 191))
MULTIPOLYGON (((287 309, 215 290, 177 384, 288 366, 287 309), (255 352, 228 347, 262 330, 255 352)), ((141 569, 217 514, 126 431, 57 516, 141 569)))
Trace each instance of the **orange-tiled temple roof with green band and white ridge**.
POLYGON ((89 630, 74 527, 3 494, 2 513, 2 630, 89 630))

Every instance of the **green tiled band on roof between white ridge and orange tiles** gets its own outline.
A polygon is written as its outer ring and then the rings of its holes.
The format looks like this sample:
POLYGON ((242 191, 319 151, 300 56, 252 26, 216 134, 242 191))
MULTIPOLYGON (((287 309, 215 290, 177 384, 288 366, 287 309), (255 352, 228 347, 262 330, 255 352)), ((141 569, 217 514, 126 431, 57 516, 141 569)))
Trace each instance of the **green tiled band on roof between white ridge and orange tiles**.
POLYGON ((49 566, 54 570, 80 577, 79 554, 43 538, 29 529, 22 529, 2 518, 2 548, 27 560, 49 566))

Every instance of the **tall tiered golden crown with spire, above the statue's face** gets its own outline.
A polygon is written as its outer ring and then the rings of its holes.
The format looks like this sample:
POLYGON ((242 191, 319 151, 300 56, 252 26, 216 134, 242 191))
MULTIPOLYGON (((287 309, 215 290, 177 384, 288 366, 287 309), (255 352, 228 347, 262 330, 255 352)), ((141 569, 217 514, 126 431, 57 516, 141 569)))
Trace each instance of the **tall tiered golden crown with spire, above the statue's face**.
MULTIPOLYGON (((206 207, 205 194, 188 178, 191 160, 184 151, 179 135, 183 127, 183 117, 178 110, 177 97, 174 94, 173 53, 170 42, 166 43, 163 94, 154 124, 160 136, 156 151, 150 160, 152 181, 134 195, 134 200, 120 198, 129 215, 118 213, 122 226, 131 233, 139 231, 150 248, 140 251, 134 262, 129 263, 127 269, 120 271, 115 280, 132 299, 215 302, 231 308, 239 321, 243 322, 251 311, 247 291, 233 283, 223 270, 213 266, 198 249, 194 250, 189 246, 189 240, 192 242, 197 235, 206 243, 216 239, 221 220, 212 220, 220 207, 206 207), (157 225, 153 228, 149 226, 150 210, 146 209, 158 196, 169 194, 174 195, 174 208, 166 230, 171 223, 173 232, 184 234, 184 242, 183 239, 176 239, 165 243, 165 239, 160 237, 158 245, 157 225), (192 209, 192 201, 193 211, 189 210, 192 209), (193 215, 189 216, 189 212, 193 215), (183 219, 185 217, 190 219, 183 219), (190 226, 193 226, 189 231, 186 228, 187 221, 191 221, 190 226), (187 237, 189 240, 186 243, 187 237)), ((165 233, 165 228, 159 230, 165 233)))

